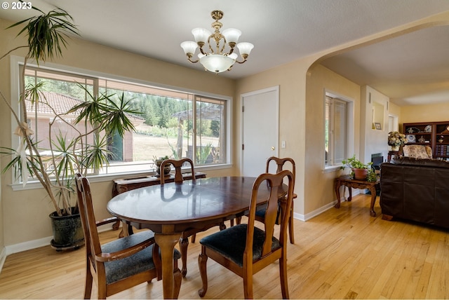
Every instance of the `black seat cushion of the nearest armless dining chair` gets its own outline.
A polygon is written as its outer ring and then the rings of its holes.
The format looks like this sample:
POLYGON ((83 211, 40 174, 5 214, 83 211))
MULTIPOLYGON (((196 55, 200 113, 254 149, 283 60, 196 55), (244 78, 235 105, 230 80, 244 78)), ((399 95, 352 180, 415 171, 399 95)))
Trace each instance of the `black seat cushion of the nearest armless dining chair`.
MULTIPOLYGON (((213 233, 202 238, 199 243, 222 254, 227 259, 243 266, 243 252, 246 246, 247 224, 240 224, 228 229, 213 233)), ((265 232, 257 227, 254 228, 253 260, 260 259, 264 243, 265 232)), ((273 237, 272 250, 281 247, 279 240, 273 237)))

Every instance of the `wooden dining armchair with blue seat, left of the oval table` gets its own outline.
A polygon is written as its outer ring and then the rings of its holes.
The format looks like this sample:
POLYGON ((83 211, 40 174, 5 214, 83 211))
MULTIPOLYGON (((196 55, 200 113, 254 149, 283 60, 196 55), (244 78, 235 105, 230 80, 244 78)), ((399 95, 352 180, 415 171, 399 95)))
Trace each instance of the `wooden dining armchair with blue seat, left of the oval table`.
MULTIPOLYGON (((97 226, 105 223, 95 221, 91 186, 88 179, 81 174, 76 175, 76 191, 86 243, 84 299, 91 299, 94 279, 98 285, 98 299, 106 299, 107 296, 142 282, 149 283, 153 278, 161 280, 161 257, 159 246, 154 243, 154 233, 140 231, 100 245, 97 226)), ((175 291, 178 294, 182 280, 177 268, 180 252, 175 250, 173 257, 175 291)))

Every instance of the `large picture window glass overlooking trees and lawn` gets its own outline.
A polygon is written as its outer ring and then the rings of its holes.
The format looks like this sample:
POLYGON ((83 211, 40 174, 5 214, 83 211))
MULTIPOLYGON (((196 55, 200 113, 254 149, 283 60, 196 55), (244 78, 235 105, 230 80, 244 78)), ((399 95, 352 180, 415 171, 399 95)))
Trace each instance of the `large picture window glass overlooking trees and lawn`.
MULTIPOLYGON (((155 170, 155 158, 164 156, 191 158, 196 167, 229 162, 229 99, 42 67, 27 67, 25 74, 25 84, 43 83, 43 95, 55 107, 51 111, 44 104, 32 105, 27 100, 27 123, 34 131, 34 138, 40 141, 43 154, 51 143, 48 123, 55 114, 86 101, 86 90, 79 86, 82 85, 93 95, 105 93, 113 95, 112 99, 123 95, 130 100, 131 108, 141 113, 131 116, 135 132, 127 132, 123 138, 107 137, 110 163, 101 170, 91 170, 93 174, 155 170)), ((70 123, 70 118, 67 116, 65 121, 70 123)), ((64 122, 53 125, 52 130, 58 131, 55 134, 70 135, 64 122)))

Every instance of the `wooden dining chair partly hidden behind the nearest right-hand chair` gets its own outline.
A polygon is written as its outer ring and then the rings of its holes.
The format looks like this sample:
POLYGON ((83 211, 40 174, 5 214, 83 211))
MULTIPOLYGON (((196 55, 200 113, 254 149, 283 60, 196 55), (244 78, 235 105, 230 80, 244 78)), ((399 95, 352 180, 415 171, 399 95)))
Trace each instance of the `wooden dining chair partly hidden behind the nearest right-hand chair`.
MULTIPOLYGON (((267 167, 265 168, 265 172, 269 173, 270 172, 270 167, 272 165, 276 166, 276 173, 281 172, 282 170, 287 169, 290 170, 290 172, 292 172, 293 174, 293 187, 295 186, 295 176, 296 176, 296 166, 295 166, 295 161, 293 161, 293 158, 277 158, 275 156, 272 156, 270 158, 267 159, 267 167)), ((294 244, 295 243, 295 233, 293 232, 294 229, 294 224, 293 224, 293 204, 294 204, 294 200, 295 198, 297 198, 297 195, 295 193, 293 193, 293 202, 292 202, 292 207, 290 209, 289 212, 289 219, 288 219, 288 236, 290 236, 290 243, 294 244)), ((261 221, 262 223, 264 222, 264 210, 257 210, 255 213, 255 219, 257 221, 261 221)), ((278 211, 278 216, 281 213, 281 210, 278 211)), ((276 221, 277 224, 277 221, 276 221)))

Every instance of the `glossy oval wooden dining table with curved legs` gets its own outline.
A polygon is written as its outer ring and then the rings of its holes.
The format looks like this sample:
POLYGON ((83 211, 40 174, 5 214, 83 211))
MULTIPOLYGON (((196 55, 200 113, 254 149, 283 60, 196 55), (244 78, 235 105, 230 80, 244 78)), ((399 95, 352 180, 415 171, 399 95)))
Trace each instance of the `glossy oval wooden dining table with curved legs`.
MULTIPOLYGON (((125 224, 151 229, 161 249, 164 299, 173 299, 173 249, 187 229, 241 217, 249 210, 255 177, 210 177, 182 184, 146 186, 121 193, 107 203, 107 210, 125 224)), ((258 191, 260 205, 267 189, 258 191)), ((279 198, 286 191, 279 191, 279 198)))

